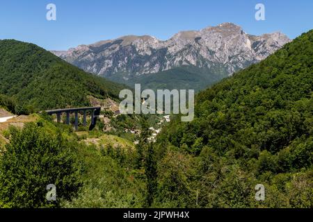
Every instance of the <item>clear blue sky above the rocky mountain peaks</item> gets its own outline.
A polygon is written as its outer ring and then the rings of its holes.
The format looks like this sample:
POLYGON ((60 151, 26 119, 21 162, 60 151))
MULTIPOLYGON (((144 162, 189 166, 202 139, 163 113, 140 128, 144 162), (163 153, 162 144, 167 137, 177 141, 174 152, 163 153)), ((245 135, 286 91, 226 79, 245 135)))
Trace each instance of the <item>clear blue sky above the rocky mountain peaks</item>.
POLYGON ((178 31, 223 22, 259 35, 282 31, 290 38, 313 28, 312 0, 0 0, 0 39, 33 42, 64 50, 122 35, 154 35, 166 40, 178 31), (56 21, 46 6, 56 5, 56 21), (266 20, 255 20, 264 3, 266 20))

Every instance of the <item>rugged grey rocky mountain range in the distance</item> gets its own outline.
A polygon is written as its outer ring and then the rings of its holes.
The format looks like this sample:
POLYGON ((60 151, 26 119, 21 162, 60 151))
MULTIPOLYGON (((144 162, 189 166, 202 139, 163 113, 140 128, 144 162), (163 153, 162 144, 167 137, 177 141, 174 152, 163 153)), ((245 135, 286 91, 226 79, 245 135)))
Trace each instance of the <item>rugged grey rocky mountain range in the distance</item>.
POLYGON ((72 65, 119 83, 203 89, 264 60, 287 42, 289 38, 279 32, 255 36, 240 26, 223 23, 200 31, 182 31, 166 41, 127 35, 52 52, 72 65))

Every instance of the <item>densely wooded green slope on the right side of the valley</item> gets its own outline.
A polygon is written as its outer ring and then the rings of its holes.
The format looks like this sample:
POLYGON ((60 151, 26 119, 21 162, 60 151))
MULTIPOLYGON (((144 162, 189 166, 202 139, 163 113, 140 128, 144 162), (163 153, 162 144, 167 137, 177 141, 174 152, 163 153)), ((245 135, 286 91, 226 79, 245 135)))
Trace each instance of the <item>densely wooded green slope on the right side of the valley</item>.
POLYGON ((198 94, 159 137, 155 204, 312 207, 313 31, 198 94), (263 184, 266 199, 254 199, 263 184))

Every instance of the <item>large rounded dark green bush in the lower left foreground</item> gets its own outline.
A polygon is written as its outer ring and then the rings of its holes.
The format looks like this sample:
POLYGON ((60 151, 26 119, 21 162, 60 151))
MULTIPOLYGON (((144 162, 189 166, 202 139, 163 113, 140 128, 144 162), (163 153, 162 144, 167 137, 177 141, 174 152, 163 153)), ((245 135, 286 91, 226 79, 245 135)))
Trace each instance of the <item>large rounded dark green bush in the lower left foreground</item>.
POLYGON ((61 131, 35 123, 10 133, 0 160, 0 207, 58 207, 61 199, 77 194, 77 144, 64 139, 61 131), (46 199, 49 184, 56 186, 56 201, 46 199))

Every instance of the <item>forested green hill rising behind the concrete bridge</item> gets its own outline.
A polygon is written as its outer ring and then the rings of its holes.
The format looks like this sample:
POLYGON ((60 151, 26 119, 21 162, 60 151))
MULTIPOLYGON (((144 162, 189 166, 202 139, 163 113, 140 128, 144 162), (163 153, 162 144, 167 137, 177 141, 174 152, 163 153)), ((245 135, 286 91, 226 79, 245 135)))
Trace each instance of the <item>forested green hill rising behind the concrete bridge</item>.
POLYGON ((17 114, 89 105, 88 95, 115 99, 125 88, 15 40, 0 41, 0 64, 0 94, 13 98, 17 114))

